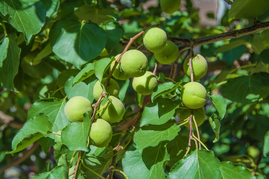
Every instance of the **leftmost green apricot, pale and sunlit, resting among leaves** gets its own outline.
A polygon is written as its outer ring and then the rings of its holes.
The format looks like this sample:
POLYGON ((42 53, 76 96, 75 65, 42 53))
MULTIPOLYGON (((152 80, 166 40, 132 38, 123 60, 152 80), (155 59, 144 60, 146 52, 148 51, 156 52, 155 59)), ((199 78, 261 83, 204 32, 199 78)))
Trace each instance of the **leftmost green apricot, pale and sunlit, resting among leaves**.
POLYGON ((75 96, 69 99, 64 106, 64 113, 70 122, 83 122, 83 114, 93 114, 92 103, 83 96, 75 96))

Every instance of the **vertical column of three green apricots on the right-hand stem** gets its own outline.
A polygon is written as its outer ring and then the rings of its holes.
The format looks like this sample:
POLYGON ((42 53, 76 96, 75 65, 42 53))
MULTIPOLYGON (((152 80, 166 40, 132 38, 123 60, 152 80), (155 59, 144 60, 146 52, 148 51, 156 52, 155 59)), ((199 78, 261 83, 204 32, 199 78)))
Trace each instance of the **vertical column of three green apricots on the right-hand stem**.
MULTIPOLYGON (((192 58, 192 67, 193 79, 195 81, 200 80, 207 72, 207 61, 203 56, 197 54, 192 58)), ((183 64, 183 69, 185 74, 190 78, 189 58, 186 58, 183 64)), ((198 82, 189 82, 185 84, 181 90, 181 99, 183 104, 188 108, 184 109, 179 114, 180 120, 187 120, 189 119, 190 114, 192 114, 197 126, 200 126, 205 120, 205 109, 203 106, 206 103, 206 98, 207 91, 203 85, 198 82)), ((186 123, 185 126, 190 127, 190 124, 186 123)), ((192 126, 195 126, 193 120, 192 126)))

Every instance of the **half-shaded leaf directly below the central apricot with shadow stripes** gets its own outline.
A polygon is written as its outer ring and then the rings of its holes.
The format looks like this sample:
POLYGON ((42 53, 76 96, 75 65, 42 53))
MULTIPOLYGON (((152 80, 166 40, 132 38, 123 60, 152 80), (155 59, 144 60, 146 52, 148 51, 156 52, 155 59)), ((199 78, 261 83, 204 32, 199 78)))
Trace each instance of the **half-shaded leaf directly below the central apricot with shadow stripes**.
POLYGON ((172 101, 168 98, 157 98, 153 102, 150 101, 146 104, 140 126, 146 124, 164 124, 172 118, 175 113, 175 109, 180 104, 180 101, 172 101))

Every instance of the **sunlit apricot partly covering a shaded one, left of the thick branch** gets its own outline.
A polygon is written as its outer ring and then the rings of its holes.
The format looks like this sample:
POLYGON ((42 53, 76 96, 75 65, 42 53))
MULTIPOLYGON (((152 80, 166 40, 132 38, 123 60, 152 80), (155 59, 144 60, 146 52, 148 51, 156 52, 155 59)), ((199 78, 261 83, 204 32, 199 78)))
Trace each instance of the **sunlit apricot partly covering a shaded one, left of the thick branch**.
POLYGON ((143 34, 143 43, 147 50, 156 53, 164 49, 167 42, 167 35, 164 30, 158 27, 151 27, 143 34))

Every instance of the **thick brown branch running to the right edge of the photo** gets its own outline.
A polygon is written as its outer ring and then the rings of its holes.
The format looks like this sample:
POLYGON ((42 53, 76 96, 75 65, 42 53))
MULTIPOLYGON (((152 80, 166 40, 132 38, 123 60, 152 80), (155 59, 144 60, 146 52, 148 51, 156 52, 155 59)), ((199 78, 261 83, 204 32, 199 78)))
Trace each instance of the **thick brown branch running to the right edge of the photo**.
POLYGON ((262 22, 262 23, 257 23, 247 28, 240 29, 240 30, 233 30, 230 32, 210 35, 210 36, 196 38, 196 39, 186 39, 182 37, 171 37, 171 36, 168 37, 168 39, 173 41, 174 43, 183 44, 178 47, 179 52, 182 52, 184 50, 191 48, 191 42, 193 42, 193 47, 197 47, 197 46, 201 46, 205 44, 214 43, 220 40, 233 39, 233 38, 250 35, 250 34, 260 32, 262 30, 268 30, 268 29, 269 29, 269 22, 262 22))

